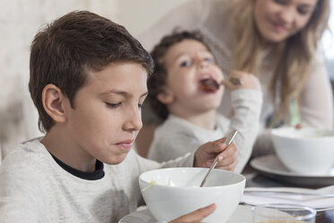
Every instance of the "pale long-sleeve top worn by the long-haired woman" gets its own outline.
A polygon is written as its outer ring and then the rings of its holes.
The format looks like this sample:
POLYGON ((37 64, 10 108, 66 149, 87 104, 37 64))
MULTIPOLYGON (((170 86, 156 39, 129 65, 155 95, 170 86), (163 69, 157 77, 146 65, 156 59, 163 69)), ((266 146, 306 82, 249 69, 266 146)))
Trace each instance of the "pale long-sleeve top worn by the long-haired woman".
MULTIPOLYGON (((218 65, 222 67, 224 75, 232 70, 233 33, 230 27, 228 4, 231 0, 192 0, 166 13, 154 26, 138 35, 138 40, 147 50, 153 49, 166 34, 171 34, 176 27, 180 30, 199 30, 215 54, 218 65)), ((272 92, 268 89, 273 76, 272 67, 268 66, 270 58, 264 58, 263 67, 259 74, 264 94, 260 114, 260 133, 254 149, 268 149, 272 147, 268 130, 264 129, 266 120, 274 112, 272 92)), ((231 112, 230 96, 224 94, 220 112, 225 116, 231 112)), ((301 123, 305 127, 319 129, 333 128, 333 93, 330 77, 326 71, 325 58, 318 50, 312 60, 311 75, 303 87, 300 97, 301 123)), ((143 120, 149 119, 150 114, 143 112, 143 120)), ((148 120, 149 121, 149 120, 148 120)), ((260 153, 260 152, 259 152, 260 153)))

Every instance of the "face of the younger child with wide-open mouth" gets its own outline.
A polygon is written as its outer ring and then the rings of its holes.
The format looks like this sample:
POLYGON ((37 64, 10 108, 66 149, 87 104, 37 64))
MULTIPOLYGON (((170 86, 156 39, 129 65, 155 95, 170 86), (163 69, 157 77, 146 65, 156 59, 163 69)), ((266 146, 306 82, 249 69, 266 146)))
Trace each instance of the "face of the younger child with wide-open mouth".
POLYGON ((199 88, 203 78, 214 78, 218 83, 224 78, 223 72, 215 64, 215 58, 207 47, 198 40, 182 40, 171 46, 164 59, 167 70, 166 93, 171 94, 171 106, 188 112, 207 112, 219 106, 224 87, 215 93, 199 88))

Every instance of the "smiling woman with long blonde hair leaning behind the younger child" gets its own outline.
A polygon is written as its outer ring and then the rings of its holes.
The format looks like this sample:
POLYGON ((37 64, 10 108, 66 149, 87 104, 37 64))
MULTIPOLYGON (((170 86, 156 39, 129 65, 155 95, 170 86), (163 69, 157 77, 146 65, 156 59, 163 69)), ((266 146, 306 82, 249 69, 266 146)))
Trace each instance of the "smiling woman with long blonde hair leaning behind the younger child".
MULTIPOLYGON (((166 14, 139 40, 152 49, 176 27, 198 29, 224 74, 236 69, 258 76, 265 95, 263 129, 253 153, 259 156, 272 152, 268 128, 333 128, 333 93, 320 46, 329 16, 330 0, 193 0, 166 14)), ((229 96, 220 111, 231 114, 229 96)), ((151 117, 143 113, 145 127, 137 138, 144 156, 141 143, 153 134, 151 117)))

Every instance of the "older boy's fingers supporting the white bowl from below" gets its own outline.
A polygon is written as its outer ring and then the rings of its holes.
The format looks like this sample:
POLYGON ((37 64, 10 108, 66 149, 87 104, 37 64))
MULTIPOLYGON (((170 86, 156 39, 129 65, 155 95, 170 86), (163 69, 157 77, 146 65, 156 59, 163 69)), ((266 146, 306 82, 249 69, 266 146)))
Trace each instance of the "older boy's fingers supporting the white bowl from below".
POLYGON ((170 223, 197 223, 201 222, 202 219, 206 218, 215 211, 215 204, 210 204, 209 206, 195 210, 187 215, 181 216, 179 219, 174 219, 170 223))

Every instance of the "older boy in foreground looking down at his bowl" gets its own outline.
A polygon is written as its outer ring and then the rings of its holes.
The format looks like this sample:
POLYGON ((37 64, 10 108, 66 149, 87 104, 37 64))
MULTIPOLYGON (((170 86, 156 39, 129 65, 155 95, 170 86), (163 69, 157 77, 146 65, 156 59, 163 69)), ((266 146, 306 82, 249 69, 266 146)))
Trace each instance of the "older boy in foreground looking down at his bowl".
MULTIPOLYGON (((1 222, 118 222, 142 197, 138 175, 167 166, 233 169, 224 139, 158 164, 131 150, 153 60, 122 26, 73 12, 31 44, 31 98, 43 138, 16 147, 0 167, 1 222)), ((200 221, 215 204, 174 222, 200 221)))

